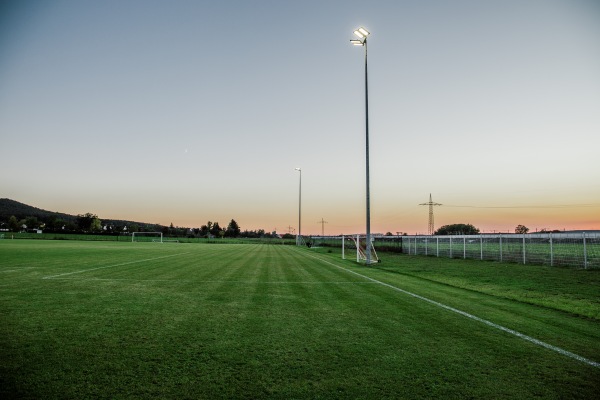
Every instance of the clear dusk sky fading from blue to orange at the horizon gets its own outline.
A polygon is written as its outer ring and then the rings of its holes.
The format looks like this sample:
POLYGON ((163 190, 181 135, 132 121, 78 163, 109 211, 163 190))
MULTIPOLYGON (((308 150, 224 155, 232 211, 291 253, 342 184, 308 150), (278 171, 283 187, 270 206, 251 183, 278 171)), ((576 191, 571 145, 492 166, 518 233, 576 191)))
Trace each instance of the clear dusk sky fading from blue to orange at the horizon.
POLYGON ((595 0, 1 1, 0 197, 364 233, 359 26, 371 232, 600 229, 595 0))

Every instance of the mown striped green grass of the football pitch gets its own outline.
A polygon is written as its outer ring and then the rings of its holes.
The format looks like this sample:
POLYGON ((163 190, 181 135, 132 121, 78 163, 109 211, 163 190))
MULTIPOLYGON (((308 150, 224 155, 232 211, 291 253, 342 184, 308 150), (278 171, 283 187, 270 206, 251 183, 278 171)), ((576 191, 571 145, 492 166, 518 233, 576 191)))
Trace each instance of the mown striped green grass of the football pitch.
POLYGON ((2 398, 600 393, 600 271, 281 245, 0 241, 2 398))

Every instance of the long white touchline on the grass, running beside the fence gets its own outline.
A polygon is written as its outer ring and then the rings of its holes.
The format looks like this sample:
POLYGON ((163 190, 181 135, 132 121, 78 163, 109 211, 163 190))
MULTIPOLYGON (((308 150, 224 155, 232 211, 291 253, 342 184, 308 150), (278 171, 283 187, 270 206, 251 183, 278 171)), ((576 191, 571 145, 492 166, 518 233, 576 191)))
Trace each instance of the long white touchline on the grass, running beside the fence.
POLYGON ((572 359, 574 359, 574 360, 581 361, 582 363, 585 363, 585 364, 591 365, 592 367, 600 368, 600 363, 598 363, 598 362, 596 362, 596 361, 592 361, 592 360, 590 360, 590 359, 588 359, 588 358, 582 357, 582 356, 580 356, 580 355, 578 355, 578 354, 575 354, 575 353, 571 353, 570 351, 567 351, 567 350, 565 350, 565 349, 562 349, 562 348, 560 348, 560 347, 556 347, 556 346, 553 346, 553 345, 551 345, 551 344, 548 344, 548 343, 546 343, 546 342, 543 342, 543 341, 541 341, 541 340, 538 340, 538 339, 536 339, 536 338, 533 338, 533 337, 531 337, 531 336, 527 336, 527 335, 525 335, 525 334, 523 334, 523 333, 521 333, 521 332, 517 332, 517 331, 515 331, 515 330, 513 330, 513 329, 506 328, 506 327, 504 327, 504 326, 502 326, 502 325, 498 325, 498 324, 496 324, 496 323, 494 323, 494 322, 491 322, 491 321, 488 321, 488 320, 486 320, 486 319, 479 318, 479 317, 477 317, 477 316, 475 316, 475 315, 473 315, 473 314, 469 314, 468 312, 461 311, 461 310, 459 310, 459 309, 457 309, 457 308, 450 307, 450 306, 447 306, 447 305, 445 305, 445 304, 442 304, 442 303, 440 303, 440 302, 437 302, 437 301, 435 301, 435 300, 428 299, 427 297, 423 297, 423 296, 420 296, 420 295, 418 295, 418 294, 415 294, 415 293, 409 292, 409 291, 407 291, 407 290, 400 289, 399 287, 396 287, 396 286, 394 286, 394 285, 390 285, 389 283, 385 283, 385 282, 378 281, 377 279, 373 279, 373 278, 371 278, 371 277, 369 277, 369 276, 366 276, 366 275, 360 274, 360 273, 358 273, 358 272, 356 272, 356 271, 352 271, 352 270, 350 270, 350 269, 347 269, 347 268, 341 267, 341 266, 339 266, 339 265, 336 265, 336 264, 334 264, 334 263, 332 263, 332 262, 330 262, 330 261, 328 261, 328 260, 323 260, 322 258, 316 257, 316 256, 314 256, 314 255, 312 255, 312 254, 310 254, 310 255, 308 255, 308 256, 309 256, 309 257, 312 257, 312 258, 315 258, 315 259, 317 259, 317 260, 319 260, 319 261, 322 261, 322 262, 324 262, 324 263, 326 263, 326 264, 333 265, 333 266, 334 266, 334 267, 336 267, 336 268, 339 268, 339 269, 342 269, 342 270, 344 270, 344 271, 350 272, 350 273, 352 273, 352 274, 354 274, 354 275, 360 276, 360 277, 362 277, 362 278, 364 278, 364 279, 367 279, 367 280, 369 280, 369 281, 371 281, 371 282, 373 282, 373 283, 377 283, 377 284, 379 284, 379 285, 382 285, 382 286, 388 287, 388 288, 390 288, 390 289, 393 289, 393 290, 396 290, 396 291, 398 291, 398 292, 401 292, 401 293, 407 294, 407 295, 409 295, 409 296, 412 296, 412 297, 414 297, 414 298, 417 298, 417 299, 419 299, 419 300, 426 301, 426 302, 428 302, 428 303, 430 303, 430 304, 433 304, 433 305, 435 305, 435 306, 441 307, 441 308, 443 308, 443 309, 445 309, 445 310, 448 310, 448 311, 455 312, 455 313, 457 313, 457 314, 460 314, 460 315, 462 315, 462 316, 464 316, 464 317, 470 318, 470 319, 472 319, 472 320, 474 320, 474 321, 477 321, 477 322, 484 323, 484 324, 486 324, 486 325, 488 325, 488 326, 491 326, 492 328, 496 328, 496 329, 498 329, 498 330, 501 330, 501 331, 503 331, 503 332, 506 332, 506 333, 509 333, 509 334, 511 334, 511 335, 517 336, 517 337, 519 337, 519 338, 521 338, 521 339, 523 339, 523 340, 526 340, 526 341, 528 341, 528 342, 530 342, 530 343, 533 343, 533 344, 535 344, 535 345, 538 345, 538 346, 544 347, 544 348, 546 348, 546 349, 548 349, 548 350, 555 351, 555 352, 557 352, 557 353, 559 353, 559 354, 562 354, 563 356, 567 356, 567 357, 570 357, 570 358, 572 358, 572 359))

